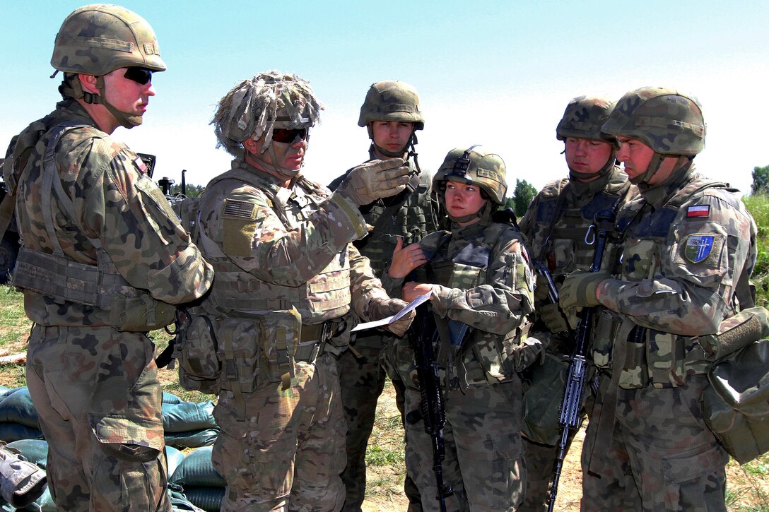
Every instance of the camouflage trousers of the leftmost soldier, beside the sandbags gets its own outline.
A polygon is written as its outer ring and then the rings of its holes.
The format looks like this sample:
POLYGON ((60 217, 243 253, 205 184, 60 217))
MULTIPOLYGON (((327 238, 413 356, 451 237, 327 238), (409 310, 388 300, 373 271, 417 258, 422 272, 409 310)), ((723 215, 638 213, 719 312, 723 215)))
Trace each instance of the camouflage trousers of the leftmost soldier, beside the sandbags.
POLYGON ((140 333, 32 328, 27 385, 57 510, 171 510, 154 356, 140 333))

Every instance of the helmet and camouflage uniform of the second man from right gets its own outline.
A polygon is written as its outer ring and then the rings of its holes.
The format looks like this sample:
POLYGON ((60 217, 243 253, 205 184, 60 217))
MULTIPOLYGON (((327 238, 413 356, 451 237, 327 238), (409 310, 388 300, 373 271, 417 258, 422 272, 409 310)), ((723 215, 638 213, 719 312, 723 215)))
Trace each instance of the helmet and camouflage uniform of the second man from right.
MULTIPOLYGON (((574 98, 558 123, 558 139, 574 137, 604 140, 601 138, 601 125, 611 114, 612 108, 614 102, 605 98, 574 98)), ((557 284, 571 271, 578 268, 587 270, 591 267, 594 245, 588 245, 586 235, 594 222, 595 214, 603 209, 618 211, 619 206, 633 193, 629 190, 628 175, 614 163, 614 151, 609 155, 604 168, 596 175, 590 176, 595 178, 593 181, 584 182, 579 178, 570 169, 569 178, 551 181, 545 185, 531 201, 520 223, 521 233, 524 234, 532 258, 548 266, 557 284)), ((548 360, 542 361, 542 366, 534 364, 524 372, 524 391, 526 383, 532 380, 531 372, 565 368, 566 359, 574 350, 573 343, 565 331, 551 332, 548 325, 541 321, 539 311, 543 307, 549 307, 550 301, 546 288, 539 288, 532 336, 538 339, 550 338, 546 354, 548 360), (545 362, 547 364, 544 364, 545 362)), ((562 389, 548 390, 548 393, 554 394, 553 399, 556 401, 563 396, 562 389)), ((527 411, 524 411, 524 421, 532 421, 531 417, 526 417, 526 413, 527 411)), ((551 417, 550 420, 555 423, 558 418, 551 417)), ((531 427, 532 431, 524 430, 524 434, 528 433, 534 439, 524 435, 527 479, 524 500, 518 510, 543 510, 547 504, 548 484, 553 474, 558 445, 551 444, 556 442, 552 437, 547 441, 536 438, 536 429, 542 428, 547 428, 548 432, 557 431, 558 425, 537 424, 531 427)), ((571 443, 571 439, 569 442, 571 443)))

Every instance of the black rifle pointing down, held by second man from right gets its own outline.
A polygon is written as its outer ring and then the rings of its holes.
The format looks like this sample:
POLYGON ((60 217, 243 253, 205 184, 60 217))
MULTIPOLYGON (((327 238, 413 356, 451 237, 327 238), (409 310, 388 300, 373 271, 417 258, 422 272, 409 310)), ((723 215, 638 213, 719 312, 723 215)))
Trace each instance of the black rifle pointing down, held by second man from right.
MULTIPOLYGON (((614 218, 616 215, 611 210, 601 210, 595 214, 594 223, 588 228, 588 234, 591 230, 596 231, 594 239, 595 252, 593 254, 593 264, 591 272, 601 270, 601 260, 604 258, 604 249, 609 233, 614 228, 614 218)), ((558 304, 558 289, 555 288, 553 279, 548 268, 541 262, 536 265, 537 271, 548 279, 548 297, 554 304, 558 304)), ((574 352, 571 354, 569 363, 568 377, 566 378, 566 387, 564 388, 564 399, 561 401, 561 417, 558 424, 561 425, 561 441, 558 442, 558 454, 555 457, 555 468, 553 470, 553 484, 550 489, 550 498, 548 499, 548 512, 553 511, 555 497, 558 495, 558 480, 561 479, 561 470, 564 467, 564 459, 569 446, 569 434, 576 430, 580 424, 580 409, 582 406, 582 395, 587 378, 587 360, 585 353, 588 350, 588 341, 590 339, 590 329, 596 308, 584 308, 580 315, 580 321, 577 326, 577 333, 569 333, 574 339, 574 352)))

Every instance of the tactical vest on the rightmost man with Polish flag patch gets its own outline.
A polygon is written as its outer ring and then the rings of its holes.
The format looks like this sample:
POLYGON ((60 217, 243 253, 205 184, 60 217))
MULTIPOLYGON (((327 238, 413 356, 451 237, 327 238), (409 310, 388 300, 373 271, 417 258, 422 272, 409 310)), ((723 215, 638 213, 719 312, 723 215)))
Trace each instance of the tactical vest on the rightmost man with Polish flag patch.
MULTIPOLYGON (((697 178, 678 191, 673 198, 651 214, 644 215, 647 208, 642 198, 637 198, 627 204, 617 221, 618 231, 625 233, 623 256, 621 258, 621 278, 624 281, 638 282, 654 278, 659 273, 661 261, 669 257, 670 248, 667 239, 674 229, 674 219, 680 210, 690 201, 701 197, 701 192, 707 188, 727 188, 724 183, 707 181, 697 178)), ((730 199, 726 194, 719 197, 733 201, 734 208, 739 208, 736 198, 730 199)), ((724 248, 724 250, 726 250, 724 248)), ((740 281, 735 286, 736 303, 731 304, 732 314, 737 313, 740 296, 747 290, 748 276, 741 273, 740 281)), ((752 305, 743 299, 744 305, 752 305)), ((731 316, 728 315, 728 316, 731 316)), ((610 367, 608 351, 610 344, 627 343, 627 352, 619 380, 620 387, 626 389, 644 387, 678 387, 686 384, 687 375, 704 374, 711 367, 707 355, 699 342, 699 337, 671 334, 651 328, 635 326, 629 332, 626 340, 616 338, 617 325, 622 321, 621 315, 606 313, 599 318, 594 339, 594 361, 600 367, 610 367), (614 324, 610 327, 609 324, 614 324), (612 333, 608 334, 607 333, 612 333)))

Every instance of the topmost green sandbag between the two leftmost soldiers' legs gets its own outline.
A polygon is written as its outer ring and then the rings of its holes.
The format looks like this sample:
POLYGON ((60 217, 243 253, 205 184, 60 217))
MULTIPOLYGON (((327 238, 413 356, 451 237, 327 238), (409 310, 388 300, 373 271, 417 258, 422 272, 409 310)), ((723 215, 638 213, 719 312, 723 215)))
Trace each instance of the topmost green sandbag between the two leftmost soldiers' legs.
POLYGON ((219 434, 213 413, 214 403, 210 400, 200 404, 181 400, 175 402, 164 393, 165 444, 176 448, 211 446, 219 434))

